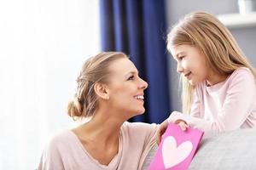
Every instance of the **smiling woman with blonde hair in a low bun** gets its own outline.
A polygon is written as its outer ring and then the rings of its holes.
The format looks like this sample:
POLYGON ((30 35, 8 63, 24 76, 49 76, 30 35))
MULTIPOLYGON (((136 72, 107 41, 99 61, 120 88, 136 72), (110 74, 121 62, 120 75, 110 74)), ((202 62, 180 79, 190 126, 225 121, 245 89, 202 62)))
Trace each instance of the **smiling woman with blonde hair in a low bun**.
POLYGON ((148 83, 125 54, 101 53, 84 63, 68 105, 73 118, 90 122, 49 141, 39 170, 137 170, 155 144, 157 125, 126 122, 143 114, 148 83))

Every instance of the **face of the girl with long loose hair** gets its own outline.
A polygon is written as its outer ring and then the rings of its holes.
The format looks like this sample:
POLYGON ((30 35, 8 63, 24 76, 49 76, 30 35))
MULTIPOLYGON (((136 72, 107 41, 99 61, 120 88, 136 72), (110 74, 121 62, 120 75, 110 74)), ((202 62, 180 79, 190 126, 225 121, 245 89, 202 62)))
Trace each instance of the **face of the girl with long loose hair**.
POLYGON ((189 44, 182 44, 173 46, 171 53, 177 60, 177 72, 186 77, 191 85, 207 80, 210 69, 201 50, 189 44))

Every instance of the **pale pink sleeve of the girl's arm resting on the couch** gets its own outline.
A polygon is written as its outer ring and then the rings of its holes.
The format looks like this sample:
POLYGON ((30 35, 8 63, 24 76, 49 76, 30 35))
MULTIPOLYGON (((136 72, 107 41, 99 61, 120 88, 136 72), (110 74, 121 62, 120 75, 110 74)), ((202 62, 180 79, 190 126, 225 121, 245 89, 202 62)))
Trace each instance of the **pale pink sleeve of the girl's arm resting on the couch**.
POLYGON ((190 127, 199 128, 205 132, 214 133, 234 130, 241 127, 253 110, 255 94, 253 75, 250 71, 241 70, 232 77, 224 99, 224 105, 215 119, 207 121, 180 112, 172 112, 168 121, 175 122, 177 119, 183 119, 190 127))

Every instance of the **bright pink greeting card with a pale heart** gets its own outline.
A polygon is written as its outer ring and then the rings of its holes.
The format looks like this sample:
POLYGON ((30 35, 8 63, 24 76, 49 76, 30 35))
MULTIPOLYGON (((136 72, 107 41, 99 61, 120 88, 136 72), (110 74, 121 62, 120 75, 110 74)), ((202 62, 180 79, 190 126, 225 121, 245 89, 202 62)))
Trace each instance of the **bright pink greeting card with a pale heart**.
POLYGON ((202 136, 199 129, 189 127, 183 131, 169 123, 149 170, 188 169, 202 136))

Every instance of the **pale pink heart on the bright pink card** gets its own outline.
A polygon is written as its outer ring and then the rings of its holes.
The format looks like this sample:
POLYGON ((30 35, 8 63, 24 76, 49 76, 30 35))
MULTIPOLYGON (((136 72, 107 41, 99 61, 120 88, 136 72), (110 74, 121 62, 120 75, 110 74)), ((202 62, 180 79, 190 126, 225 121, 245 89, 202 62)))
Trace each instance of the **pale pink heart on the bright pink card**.
POLYGON ((193 149, 190 141, 185 141, 177 146, 177 141, 173 136, 168 136, 163 142, 162 156, 166 168, 174 167, 185 160, 193 149))

